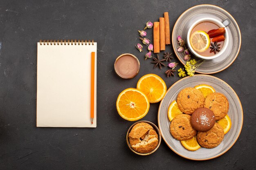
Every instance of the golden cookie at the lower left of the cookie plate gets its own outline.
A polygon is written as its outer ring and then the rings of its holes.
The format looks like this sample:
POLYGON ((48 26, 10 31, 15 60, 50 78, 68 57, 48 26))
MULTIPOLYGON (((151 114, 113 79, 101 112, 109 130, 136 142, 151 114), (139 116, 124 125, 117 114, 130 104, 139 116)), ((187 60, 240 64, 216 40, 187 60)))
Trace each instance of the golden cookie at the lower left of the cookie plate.
POLYGON ((196 135, 197 131, 192 127, 190 118, 190 115, 181 114, 171 121, 170 132, 175 139, 189 140, 196 135))

